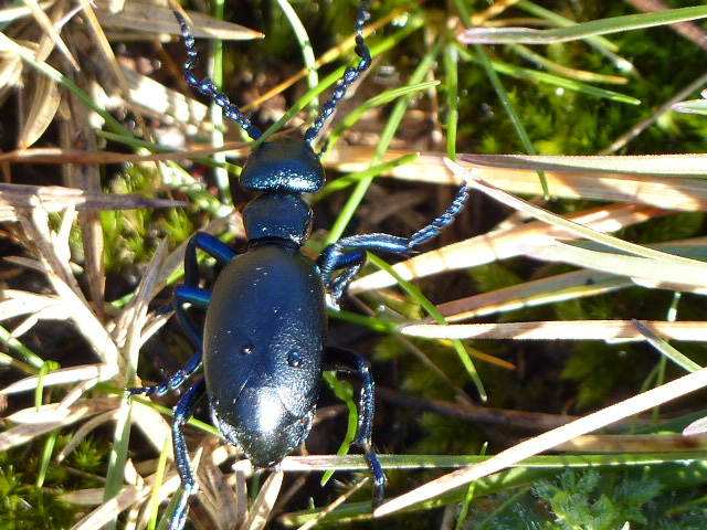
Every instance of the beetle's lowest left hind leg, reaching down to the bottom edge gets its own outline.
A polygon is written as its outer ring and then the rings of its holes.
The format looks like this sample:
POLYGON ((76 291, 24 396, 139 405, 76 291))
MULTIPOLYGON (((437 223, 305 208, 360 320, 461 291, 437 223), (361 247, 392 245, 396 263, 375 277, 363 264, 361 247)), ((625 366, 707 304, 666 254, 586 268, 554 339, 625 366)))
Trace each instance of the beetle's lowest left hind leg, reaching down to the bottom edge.
POLYGON ((175 446, 175 462, 177 463, 177 470, 179 471, 181 487, 184 491, 179 499, 179 504, 177 505, 175 513, 169 522, 170 530, 181 530, 183 528, 184 522, 187 521, 189 497, 199 490, 197 477, 191 467, 189 451, 187 449, 187 441, 181 432, 181 427, 191 418, 191 416, 193 416, 197 404, 204 395, 207 395, 207 384, 204 379, 201 378, 197 384, 189 389, 181 400, 179 400, 179 403, 177 403, 177 406, 175 407, 175 418, 172 421, 172 444, 175 446))

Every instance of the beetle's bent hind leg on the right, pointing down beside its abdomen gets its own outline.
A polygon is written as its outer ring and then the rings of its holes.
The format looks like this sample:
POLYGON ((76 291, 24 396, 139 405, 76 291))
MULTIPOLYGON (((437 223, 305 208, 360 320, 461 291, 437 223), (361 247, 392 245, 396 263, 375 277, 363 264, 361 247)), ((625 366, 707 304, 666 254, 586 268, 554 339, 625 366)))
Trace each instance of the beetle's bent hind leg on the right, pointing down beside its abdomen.
POLYGON ((327 347, 325 361, 325 370, 334 369, 347 373, 355 372, 363 380, 358 405, 358 427, 354 443, 363 451, 368 467, 373 475, 373 508, 377 508, 383 502, 387 478, 371 441, 376 405, 371 365, 368 359, 360 353, 333 346, 327 347))

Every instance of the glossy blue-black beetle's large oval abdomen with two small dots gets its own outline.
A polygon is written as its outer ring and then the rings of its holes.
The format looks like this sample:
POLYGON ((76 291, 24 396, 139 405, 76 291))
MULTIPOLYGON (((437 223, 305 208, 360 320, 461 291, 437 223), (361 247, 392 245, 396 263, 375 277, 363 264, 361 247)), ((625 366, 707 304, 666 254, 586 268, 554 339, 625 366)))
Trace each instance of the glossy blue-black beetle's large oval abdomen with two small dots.
POLYGON ((321 278, 297 251, 251 248, 213 287, 203 349, 211 413, 256 466, 277 464, 309 433, 326 325, 321 278))

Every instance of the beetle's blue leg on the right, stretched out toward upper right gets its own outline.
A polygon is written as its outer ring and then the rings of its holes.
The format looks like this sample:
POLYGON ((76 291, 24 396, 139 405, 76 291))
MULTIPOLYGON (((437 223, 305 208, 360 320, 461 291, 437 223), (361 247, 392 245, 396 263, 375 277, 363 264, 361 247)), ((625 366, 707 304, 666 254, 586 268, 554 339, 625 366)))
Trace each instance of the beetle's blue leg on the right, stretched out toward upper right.
POLYGON ((327 246, 317 264, 321 271, 324 285, 330 293, 331 306, 338 307, 338 301, 346 288, 366 263, 367 251, 401 256, 413 254, 415 246, 436 237, 442 230, 454 222, 456 215, 464 209, 467 198, 468 186, 464 183, 444 213, 412 234, 410 239, 380 233, 359 234, 344 237, 327 246), (333 277, 336 271, 341 271, 341 273, 333 277))

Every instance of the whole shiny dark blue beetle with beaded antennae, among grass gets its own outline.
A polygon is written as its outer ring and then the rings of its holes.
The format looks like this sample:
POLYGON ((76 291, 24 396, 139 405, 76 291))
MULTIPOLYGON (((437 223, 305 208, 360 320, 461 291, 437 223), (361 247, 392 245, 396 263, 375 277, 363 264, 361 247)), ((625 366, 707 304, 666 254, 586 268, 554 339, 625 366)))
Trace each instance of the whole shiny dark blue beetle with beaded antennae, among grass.
MULTIPOLYGON (((261 131, 210 78, 197 78, 194 39, 186 20, 177 12, 175 15, 188 54, 188 84, 222 107, 252 139, 260 138, 261 131)), ((413 253, 415 246, 453 222, 468 190, 463 186, 446 211, 411 237, 352 235, 327 246, 316 261, 300 252, 313 224, 313 212, 302 195, 318 191, 325 181, 321 152, 315 152, 313 142, 348 87, 371 64, 362 34, 369 17, 368 2, 362 1, 356 20, 358 65, 346 70, 304 138, 264 142, 247 156, 240 178, 241 187, 255 194, 242 212, 247 250, 239 254, 205 233, 197 233, 188 242, 184 283, 175 290, 173 308, 197 354, 162 384, 130 390, 130 394, 163 394, 203 371, 175 407, 175 459, 184 492, 171 529, 183 527, 189 498, 198 491, 181 431, 197 404, 208 398, 214 425, 255 467, 276 468, 309 434, 323 370, 357 373, 362 379, 355 444, 373 475, 372 505, 382 502, 386 476, 371 442, 374 399, 370 364, 359 353, 326 344, 327 306, 338 308, 366 262, 366 252, 413 253), (211 292, 199 287, 199 251, 224 265, 211 292), (205 309, 203 333, 186 304, 205 309)))

